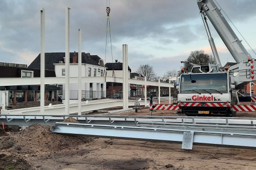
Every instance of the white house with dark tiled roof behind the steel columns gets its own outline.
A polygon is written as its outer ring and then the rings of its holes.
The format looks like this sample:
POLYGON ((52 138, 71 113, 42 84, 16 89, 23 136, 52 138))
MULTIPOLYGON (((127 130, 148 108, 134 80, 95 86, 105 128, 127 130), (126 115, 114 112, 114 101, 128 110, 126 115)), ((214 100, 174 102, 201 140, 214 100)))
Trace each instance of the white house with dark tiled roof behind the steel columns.
MULTIPOLYGON (((82 53, 82 77, 101 77, 104 74, 104 62, 97 55, 82 53)), ((56 77, 65 77, 65 53, 45 53, 46 70, 54 70, 56 77)), ((70 77, 78 77, 78 53, 70 53, 70 77)), ((28 68, 40 68, 40 54, 28 66, 28 68)), ((58 84, 58 95, 65 99, 65 84, 58 84)), ((106 83, 86 82, 82 83, 82 98, 85 100, 100 99, 105 97, 106 83)), ((70 84, 70 99, 78 99, 78 84, 70 84)))

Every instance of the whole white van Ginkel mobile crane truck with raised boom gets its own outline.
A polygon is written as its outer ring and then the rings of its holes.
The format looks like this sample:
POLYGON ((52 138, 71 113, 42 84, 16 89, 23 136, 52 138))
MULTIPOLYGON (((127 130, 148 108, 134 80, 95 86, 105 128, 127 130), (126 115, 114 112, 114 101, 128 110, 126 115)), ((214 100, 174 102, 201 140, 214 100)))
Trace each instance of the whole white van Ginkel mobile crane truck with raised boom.
POLYGON ((236 110, 232 109, 232 105, 239 103, 237 89, 256 80, 255 60, 246 51, 213 0, 197 0, 197 4, 217 64, 193 64, 190 71, 183 72, 177 79, 177 104, 182 113, 187 115, 235 116, 236 110), (236 61, 235 65, 222 67, 206 17, 236 61))

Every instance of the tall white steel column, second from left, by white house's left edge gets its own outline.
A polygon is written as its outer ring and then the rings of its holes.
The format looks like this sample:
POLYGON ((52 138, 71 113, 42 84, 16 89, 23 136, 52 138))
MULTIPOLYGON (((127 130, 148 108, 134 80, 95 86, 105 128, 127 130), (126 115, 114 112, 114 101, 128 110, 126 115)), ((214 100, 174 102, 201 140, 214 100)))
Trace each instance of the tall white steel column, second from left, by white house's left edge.
POLYGON ((69 63, 70 63, 70 53, 69 53, 69 10, 70 8, 66 9, 66 23, 65 23, 65 30, 66 30, 66 36, 65 36, 65 114, 69 115, 69 98, 70 98, 70 91, 69 91, 69 63))

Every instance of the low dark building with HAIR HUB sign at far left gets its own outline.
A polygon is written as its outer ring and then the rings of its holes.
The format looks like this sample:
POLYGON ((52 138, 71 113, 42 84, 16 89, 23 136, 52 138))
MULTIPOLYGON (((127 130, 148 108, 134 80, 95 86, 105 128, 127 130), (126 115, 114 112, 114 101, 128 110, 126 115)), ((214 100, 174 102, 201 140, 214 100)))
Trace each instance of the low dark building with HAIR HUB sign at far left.
MULTIPOLYGON (((54 70, 45 70, 46 77, 56 77, 54 70)), ((0 63, 0 78, 36 78, 40 77, 40 69, 27 68, 26 64, 0 63)), ((45 100, 57 101, 57 85, 45 85, 45 100)), ((6 91, 6 106, 22 102, 39 102, 40 85, 0 86, 0 104, 2 93, 6 91)))

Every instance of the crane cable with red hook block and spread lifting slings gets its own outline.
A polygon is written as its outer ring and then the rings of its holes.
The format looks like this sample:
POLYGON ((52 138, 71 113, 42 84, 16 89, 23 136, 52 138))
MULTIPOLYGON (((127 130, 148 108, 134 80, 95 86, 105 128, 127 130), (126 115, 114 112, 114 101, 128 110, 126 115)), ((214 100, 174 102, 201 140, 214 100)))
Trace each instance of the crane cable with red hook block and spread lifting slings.
MULTIPOLYGON (((110 46, 111 46, 111 57, 112 57, 112 77, 114 77, 114 82, 116 82, 116 75, 114 71, 114 63, 113 63, 113 50, 112 50, 112 39, 111 39, 111 29, 110 29, 110 0, 108 4, 108 0, 106 0, 106 41, 105 41, 105 63, 106 63, 106 45, 108 42, 108 32, 110 34, 110 46)), ((106 71, 104 65, 104 76, 106 81, 106 71)), ((113 83, 112 83, 113 86, 113 83)))

